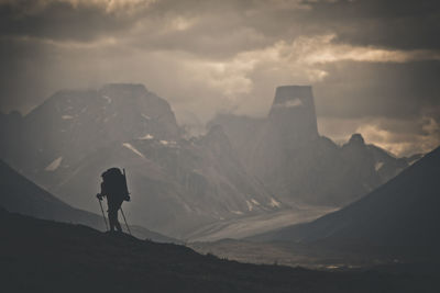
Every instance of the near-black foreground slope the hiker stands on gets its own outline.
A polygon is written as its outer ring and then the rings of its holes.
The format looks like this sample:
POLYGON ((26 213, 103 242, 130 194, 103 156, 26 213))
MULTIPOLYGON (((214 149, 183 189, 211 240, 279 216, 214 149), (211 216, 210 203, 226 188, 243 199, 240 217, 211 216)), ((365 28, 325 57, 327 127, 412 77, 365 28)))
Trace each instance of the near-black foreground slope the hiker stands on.
POLYGON ((2 292, 436 292, 426 279, 245 264, 2 209, 0 232, 2 292))

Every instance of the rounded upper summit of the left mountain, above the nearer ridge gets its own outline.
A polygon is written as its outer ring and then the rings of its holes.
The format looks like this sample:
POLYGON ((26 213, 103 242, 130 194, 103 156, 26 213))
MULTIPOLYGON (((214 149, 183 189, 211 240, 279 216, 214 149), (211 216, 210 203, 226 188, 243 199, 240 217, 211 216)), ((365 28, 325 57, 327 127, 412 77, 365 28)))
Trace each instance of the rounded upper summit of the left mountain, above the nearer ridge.
POLYGON ((99 90, 59 91, 24 117, 23 158, 33 169, 72 165, 114 142, 146 134, 176 139, 168 103, 142 84, 107 84, 99 90), (51 164, 54 162, 54 165, 51 164))

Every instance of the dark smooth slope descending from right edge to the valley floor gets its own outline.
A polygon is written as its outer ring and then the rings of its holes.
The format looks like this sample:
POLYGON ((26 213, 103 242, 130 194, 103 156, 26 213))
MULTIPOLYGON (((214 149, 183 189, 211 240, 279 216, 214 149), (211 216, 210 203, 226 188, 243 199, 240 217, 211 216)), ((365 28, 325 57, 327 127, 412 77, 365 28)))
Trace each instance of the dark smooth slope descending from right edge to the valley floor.
POLYGON ((258 241, 375 246, 440 245, 440 147, 351 205, 311 223, 251 237, 258 241))

